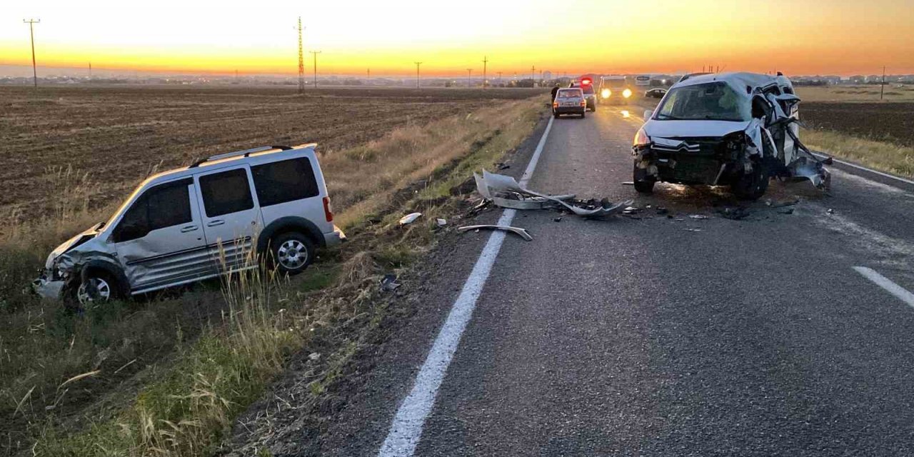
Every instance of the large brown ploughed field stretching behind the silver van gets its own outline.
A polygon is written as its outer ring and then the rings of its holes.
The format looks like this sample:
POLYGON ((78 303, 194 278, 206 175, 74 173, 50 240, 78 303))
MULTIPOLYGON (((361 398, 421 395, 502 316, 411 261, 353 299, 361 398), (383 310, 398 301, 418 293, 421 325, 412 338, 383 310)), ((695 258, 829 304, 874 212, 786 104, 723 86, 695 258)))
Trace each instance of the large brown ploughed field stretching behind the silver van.
POLYGON ((0 217, 61 211, 61 193, 89 207, 125 197, 155 167, 264 144, 333 151, 533 90, 260 87, 0 87, 0 217))

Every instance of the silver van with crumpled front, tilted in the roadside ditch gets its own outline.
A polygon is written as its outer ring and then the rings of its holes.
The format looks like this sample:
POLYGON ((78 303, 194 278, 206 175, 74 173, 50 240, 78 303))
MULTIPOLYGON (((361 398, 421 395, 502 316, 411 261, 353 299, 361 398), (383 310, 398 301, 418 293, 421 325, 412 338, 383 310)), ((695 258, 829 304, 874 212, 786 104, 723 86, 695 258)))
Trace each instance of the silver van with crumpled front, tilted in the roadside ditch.
POLYGON ((345 240, 315 146, 218 154, 146 179, 107 222, 53 250, 33 289, 85 304, 256 268, 252 259, 303 271, 316 248, 345 240))

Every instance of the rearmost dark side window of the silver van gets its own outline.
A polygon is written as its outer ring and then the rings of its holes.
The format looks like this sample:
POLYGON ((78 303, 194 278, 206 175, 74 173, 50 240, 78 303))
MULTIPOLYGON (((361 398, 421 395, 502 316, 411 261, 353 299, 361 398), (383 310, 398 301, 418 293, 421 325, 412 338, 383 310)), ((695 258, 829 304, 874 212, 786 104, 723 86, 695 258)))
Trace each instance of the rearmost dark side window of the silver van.
POLYGON ((250 167, 260 207, 316 197, 317 181, 307 157, 250 167))

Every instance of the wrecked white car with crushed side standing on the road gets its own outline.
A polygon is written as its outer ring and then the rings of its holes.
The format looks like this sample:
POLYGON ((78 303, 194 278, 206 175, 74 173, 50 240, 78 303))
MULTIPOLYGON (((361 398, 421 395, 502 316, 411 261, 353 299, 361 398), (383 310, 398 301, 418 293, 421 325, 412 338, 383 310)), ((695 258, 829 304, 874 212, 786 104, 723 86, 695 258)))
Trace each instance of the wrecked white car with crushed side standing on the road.
POLYGON ((827 187, 830 161, 797 136, 799 101, 780 73, 686 76, 644 113, 632 145, 635 189, 650 193, 657 181, 729 185, 737 197, 757 199, 771 176, 827 187))

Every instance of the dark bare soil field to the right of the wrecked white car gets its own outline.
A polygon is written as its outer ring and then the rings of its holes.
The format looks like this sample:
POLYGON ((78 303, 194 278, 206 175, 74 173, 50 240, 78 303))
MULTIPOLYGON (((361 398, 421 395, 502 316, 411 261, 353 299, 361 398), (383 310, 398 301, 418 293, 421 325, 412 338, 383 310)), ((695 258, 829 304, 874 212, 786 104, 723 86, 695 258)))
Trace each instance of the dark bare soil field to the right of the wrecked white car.
POLYGON ((806 102, 800 118, 817 130, 914 146, 914 102, 806 102))

